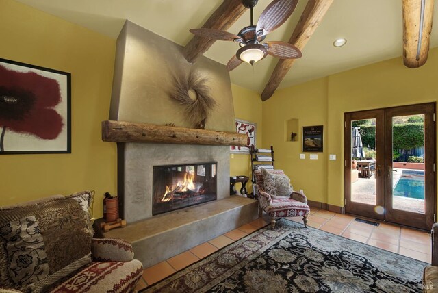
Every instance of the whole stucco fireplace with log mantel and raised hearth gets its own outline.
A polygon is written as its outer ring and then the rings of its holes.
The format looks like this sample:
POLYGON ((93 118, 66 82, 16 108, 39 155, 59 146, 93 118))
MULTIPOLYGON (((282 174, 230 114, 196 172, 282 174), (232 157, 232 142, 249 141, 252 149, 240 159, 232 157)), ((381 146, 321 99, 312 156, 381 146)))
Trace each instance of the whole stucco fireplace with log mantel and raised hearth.
MULTIPOLYGON (((128 222, 103 235, 131 242, 144 267, 258 217, 257 201, 229 195, 229 145, 246 142, 235 133, 229 73, 205 57, 189 64, 181 49, 127 21, 117 40, 110 121, 103 122, 103 140, 117 142, 120 214, 128 222), (184 109, 169 98, 175 75, 192 71, 208 79, 216 102, 205 120, 206 130, 192 129, 184 109), (216 200, 153 212, 154 168, 196 163, 214 166, 215 183, 198 183, 192 191, 216 188, 216 200)), ((211 177, 212 171, 207 174, 211 177)))

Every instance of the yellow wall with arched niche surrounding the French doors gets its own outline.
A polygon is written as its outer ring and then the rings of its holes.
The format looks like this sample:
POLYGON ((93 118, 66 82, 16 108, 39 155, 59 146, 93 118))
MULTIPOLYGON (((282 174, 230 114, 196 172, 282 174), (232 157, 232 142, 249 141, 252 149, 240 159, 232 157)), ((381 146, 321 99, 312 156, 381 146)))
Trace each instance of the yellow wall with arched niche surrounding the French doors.
MULTIPOLYGON (((292 68, 293 70, 293 68, 292 68)), ((263 102, 263 145, 274 144, 276 167, 292 178, 294 189, 309 199, 344 206, 344 112, 438 100, 438 48, 417 69, 402 58, 378 62, 316 81, 277 90, 263 102), (284 124, 298 118, 305 125, 324 125, 324 153, 318 160, 299 159, 299 142, 284 142, 284 124), (329 154, 337 155, 329 161, 329 154)))

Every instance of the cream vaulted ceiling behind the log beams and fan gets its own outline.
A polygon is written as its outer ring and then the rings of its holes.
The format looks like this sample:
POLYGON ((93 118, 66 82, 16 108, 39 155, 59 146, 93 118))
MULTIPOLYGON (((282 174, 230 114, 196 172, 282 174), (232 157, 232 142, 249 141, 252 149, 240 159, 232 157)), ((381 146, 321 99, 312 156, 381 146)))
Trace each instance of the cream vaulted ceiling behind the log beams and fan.
MULTIPOLYGON (((201 27, 223 2, 223 0, 17 1, 112 38, 117 38, 125 19, 129 19, 182 46, 193 38, 189 29, 201 27)), ((255 22, 270 1, 272 0, 259 0, 254 8, 255 22)), ((299 0, 289 20, 279 29, 268 34, 266 41, 288 42, 306 5, 307 0, 299 0)), ((435 20, 438 19, 438 9, 434 10, 433 16, 435 20)), ((242 27, 249 24, 250 13, 246 10, 227 31, 237 34, 242 27)), ((302 49, 302 58, 296 60, 287 71, 279 88, 401 56, 402 24, 400 0, 334 0, 320 25, 302 49), (346 45, 333 47, 333 41, 337 38, 346 38, 346 45)), ((430 47, 437 46, 438 29, 432 29, 430 47)), ((216 41, 204 55, 227 64, 238 48, 234 42, 216 41)), ((231 82, 261 93, 268 84, 277 62, 277 58, 268 55, 254 66, 242 64, 231 71, 231 82)))

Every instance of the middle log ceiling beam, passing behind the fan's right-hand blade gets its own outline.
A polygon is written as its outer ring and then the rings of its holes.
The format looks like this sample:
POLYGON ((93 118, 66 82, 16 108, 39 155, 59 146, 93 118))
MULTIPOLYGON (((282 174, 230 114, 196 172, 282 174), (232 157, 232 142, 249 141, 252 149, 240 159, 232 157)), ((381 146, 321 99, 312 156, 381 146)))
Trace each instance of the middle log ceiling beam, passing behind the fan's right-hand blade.
MULTIPOLYGON (((333 3, 333 0, 309 0, 305 10, 301 14, 300 21, 298 21, 290 37, 289 43, 294 44, 298 49, 302 50, 322 21, 322 18, 324 18, 327 10, 329 10, 331 3, 333 3)), ((268 84, 266 84, 265 89, 261 93, 262 101, 266 101, 272 97, 272 94, 274 94, 276 88, 279 87, 294 62, 295 59, 279 60, 268 84)))

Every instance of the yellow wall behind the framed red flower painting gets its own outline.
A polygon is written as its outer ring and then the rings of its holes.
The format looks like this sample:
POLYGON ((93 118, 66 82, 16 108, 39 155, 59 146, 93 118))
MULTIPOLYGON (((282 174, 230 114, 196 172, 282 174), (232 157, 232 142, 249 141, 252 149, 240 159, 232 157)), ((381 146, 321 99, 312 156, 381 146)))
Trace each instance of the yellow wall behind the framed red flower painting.
POLYGON ((1 58, 72 75, 72 153, 1 155, 0 206, 51 194, 116 193, 116 144, 101 141, 110 112, 116 41, 12 0, 0 0, 1 58))

